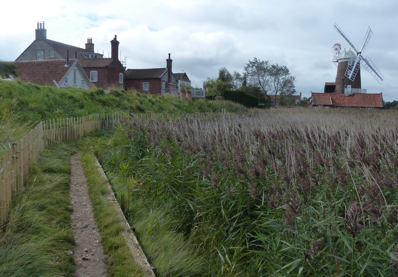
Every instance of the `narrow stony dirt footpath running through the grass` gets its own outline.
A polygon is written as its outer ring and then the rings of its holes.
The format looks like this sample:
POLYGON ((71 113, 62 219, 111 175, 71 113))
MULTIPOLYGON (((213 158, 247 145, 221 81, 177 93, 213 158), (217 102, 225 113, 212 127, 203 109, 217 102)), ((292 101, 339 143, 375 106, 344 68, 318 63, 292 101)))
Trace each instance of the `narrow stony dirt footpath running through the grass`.
POLYGON ((72 230, 75 238, 73 256, 76 263, 75 277, 105 277, 106 255, 100 230, 93 215, 93 206, 88 194, 87 180, 79 154, 71 156, 71 183, 69 196, 72 203, 72 230))

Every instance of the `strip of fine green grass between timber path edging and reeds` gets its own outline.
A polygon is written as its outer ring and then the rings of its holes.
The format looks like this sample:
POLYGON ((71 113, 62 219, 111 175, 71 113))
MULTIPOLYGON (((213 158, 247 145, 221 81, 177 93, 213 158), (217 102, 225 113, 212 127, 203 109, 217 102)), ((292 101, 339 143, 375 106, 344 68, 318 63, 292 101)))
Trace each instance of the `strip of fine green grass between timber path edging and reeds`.
MULTIPOLYGON (((110 145, 126 145, 126 138, 120 137, 120 131, 109 141, 99 139, 95 143, 94 152, 97 153, 110 145)), ((111 147, 110 147, 111 148, 111 147)), ((122 158, 123 152, 117 150, 111 159, 122 158)), ((118 168, 116 174, 107 174, 113 191, 117 193, 117 200, 128 219, 130 226, 135 228, 140 245, 149 262, 157 268, 159 276, 201 276, 205 274, 204 261, 199 256, 193 244, 178 232, 180 219, 173 215, 171 206, 156 207, 146 198, 136 197, 134 192, 139 190, 134 179, 123 175, 130 165, 124 164, 118 168), (120 173, 121 175, 119 175, 120 173)), ((133 164, 131 164, 133 166, 133 164)), ((167 199, 164 199, 167 202, 167 199)))

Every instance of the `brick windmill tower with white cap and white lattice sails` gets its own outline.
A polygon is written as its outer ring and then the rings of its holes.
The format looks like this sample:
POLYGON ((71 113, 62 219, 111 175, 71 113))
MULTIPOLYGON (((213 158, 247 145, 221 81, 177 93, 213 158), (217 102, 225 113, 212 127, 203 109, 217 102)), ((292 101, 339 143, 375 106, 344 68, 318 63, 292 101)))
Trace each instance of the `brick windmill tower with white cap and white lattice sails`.
POLYGON ((361 63, 369 71, 369 73, 376 79, 376 81, 381 84, 383 82, 384 76, 380 73, 379 69, 375 66, 375 64, 371 61, 369 57, 364 58, 362 56, 362 52, 365 50, 366 46, 368 46, 369 40, 372 37, 372 30, 368 27, 366 31, 364 41, 360 50, 358 51, 355 46, 351 43, 351 41, 347 38, 347 36, 343 33, 340 27, 334 23, 335 30, 348 42, 348 44, 355 51, 353 52, 351 49, 346 51, 341 51, 339 57, 337 59, 337 75, 336 75, 336 87, 334 92, 336 93, 344 93, 344 89, 353 88, 360 89, 361 88, 361 63))

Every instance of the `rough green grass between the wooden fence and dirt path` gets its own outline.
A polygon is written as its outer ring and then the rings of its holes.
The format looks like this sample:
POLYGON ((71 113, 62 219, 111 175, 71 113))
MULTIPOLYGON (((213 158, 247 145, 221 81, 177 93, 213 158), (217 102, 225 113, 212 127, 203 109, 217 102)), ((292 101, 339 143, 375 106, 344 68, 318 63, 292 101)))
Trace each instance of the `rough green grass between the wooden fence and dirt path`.
POLYGON ((43 151, 17 192, 0 231, 0 276, 72 276, 69 155, 75 144, 43 151))

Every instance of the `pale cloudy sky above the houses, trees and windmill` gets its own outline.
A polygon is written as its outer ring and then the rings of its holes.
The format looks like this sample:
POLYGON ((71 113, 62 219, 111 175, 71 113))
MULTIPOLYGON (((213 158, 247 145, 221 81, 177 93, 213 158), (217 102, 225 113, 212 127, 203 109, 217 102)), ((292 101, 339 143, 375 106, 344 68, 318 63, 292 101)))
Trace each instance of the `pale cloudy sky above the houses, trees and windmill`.
POLYGON ((398 100, 398 2, 396 0, 40 0, 2 5, 0 60, 15 60, 35 39, 37 21, 47 38, 110 55, 117 35, 127 68, 166 67, 186 72, 194 86, 218 74, 220 67, 242 72, 257 57, 286 65, 296 90, 309 97, 334 82, 332 45, 357 49, 368 26, 373 31, 364 56, 385 76, 380 85, 362 70, 362 88, 398 100))

